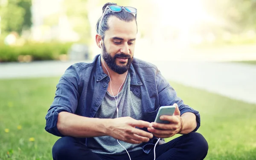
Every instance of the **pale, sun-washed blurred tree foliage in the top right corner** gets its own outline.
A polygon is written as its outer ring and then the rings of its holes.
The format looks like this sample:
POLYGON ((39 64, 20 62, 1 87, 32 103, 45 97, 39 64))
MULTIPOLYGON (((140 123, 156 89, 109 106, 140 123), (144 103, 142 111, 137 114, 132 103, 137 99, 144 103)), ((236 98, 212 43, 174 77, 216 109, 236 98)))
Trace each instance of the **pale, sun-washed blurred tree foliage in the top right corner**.
POLYGON ((256 29, 256 0, 205 0, 211 15, 225 21, 224 29, 239 33, 256 29))

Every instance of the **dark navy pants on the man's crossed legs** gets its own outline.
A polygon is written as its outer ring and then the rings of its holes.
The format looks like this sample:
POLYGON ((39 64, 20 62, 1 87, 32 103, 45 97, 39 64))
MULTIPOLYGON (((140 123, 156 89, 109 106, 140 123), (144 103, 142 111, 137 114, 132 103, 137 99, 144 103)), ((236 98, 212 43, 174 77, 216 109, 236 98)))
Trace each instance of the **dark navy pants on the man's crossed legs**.
MULTIPOLYGON (((121 147, 121 146, 120 146, 121 147)), ((208 144, 199 133, 189 133, 157 145, 156 160, 203 160, 208 151, 208 144)), ((142 149, 129 152, 132 160, 154 160, 154 148, 149 154, 142 149)), ((53 160, 130 160, 128 154, 96 154, 84 143, 74 137, 62 137, 52 147, 53 160)))

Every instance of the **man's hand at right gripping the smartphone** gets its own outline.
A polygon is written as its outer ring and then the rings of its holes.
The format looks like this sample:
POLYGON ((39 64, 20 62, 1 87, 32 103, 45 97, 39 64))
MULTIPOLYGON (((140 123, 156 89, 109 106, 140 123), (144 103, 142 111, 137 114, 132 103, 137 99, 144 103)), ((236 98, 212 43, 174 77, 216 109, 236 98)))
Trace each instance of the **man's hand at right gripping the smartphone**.
POLYGON ((173 113, 173 116, 167 116, 167 115, 160 116, 161 120, 169 121, 170 122, 169 124, 152 122, 151 124, 153 125, 153 127, 148 128, 148 131, 150 131, 152 134, 154 134, 154 136, 159 138, 168 138, 177 134, 181 128, 180 110, 176 103, 174 104, 174 106, 176 108, 173 113))

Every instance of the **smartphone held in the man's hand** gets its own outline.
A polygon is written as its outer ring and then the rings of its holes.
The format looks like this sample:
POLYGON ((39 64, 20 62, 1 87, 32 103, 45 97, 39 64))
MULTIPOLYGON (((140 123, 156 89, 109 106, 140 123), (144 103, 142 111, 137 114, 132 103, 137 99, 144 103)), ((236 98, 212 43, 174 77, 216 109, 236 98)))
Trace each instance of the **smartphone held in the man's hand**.
POLYGON ((159 108, 158 112, 157 112, 157 116, 156 116, 156 119, 154 122, 157 122, 157 123, 164 123, 164 124, 168 124, 169 121, 163 121, 160 119, 160 116, 162 115, 169 115, 169 116, 172 116, 174 111, 175 111, 175 106, 173 105, 168 105, 168 106, 162 106, 159 108))

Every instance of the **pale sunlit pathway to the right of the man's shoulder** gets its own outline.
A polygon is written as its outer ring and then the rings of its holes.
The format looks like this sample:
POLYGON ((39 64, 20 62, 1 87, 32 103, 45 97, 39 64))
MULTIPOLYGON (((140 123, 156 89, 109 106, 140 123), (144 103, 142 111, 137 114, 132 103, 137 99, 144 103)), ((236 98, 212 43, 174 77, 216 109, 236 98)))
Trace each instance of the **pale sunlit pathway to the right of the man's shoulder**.
POLYGON ((199 61, 153 63, 171 81, 256 104, 256 65, 199 61))

